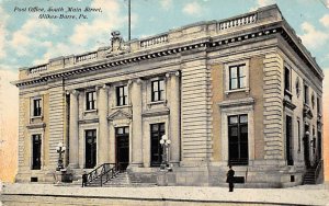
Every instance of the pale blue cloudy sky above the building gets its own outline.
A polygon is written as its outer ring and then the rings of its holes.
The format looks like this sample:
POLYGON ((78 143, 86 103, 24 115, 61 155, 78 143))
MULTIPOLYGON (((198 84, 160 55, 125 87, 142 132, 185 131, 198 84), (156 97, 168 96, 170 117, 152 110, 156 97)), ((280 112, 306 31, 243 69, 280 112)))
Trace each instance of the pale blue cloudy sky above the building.
MULTIPOLYGON (((111 31, 127 39, 127 0, 0 0, 0 69, 16 71, 49 58, 110 45, 111 31), (42 20, 35 7, 101 8, 88 19, 42 20)), ((200 21, 222 20, 277 3, 322 69, 329 70, 329 0, 132 0, 132 38, 200 21)), ((48 12, 45 12, 48 13, 48 12)), ((58 12, 65 13, 65 12, 58 12)), ((83 13, 83 12, 82 12, 83 13)), ((55 13, 50 13, 55 14, 55 13)), ((65 13, 65 14, 79 14, 65 13)))

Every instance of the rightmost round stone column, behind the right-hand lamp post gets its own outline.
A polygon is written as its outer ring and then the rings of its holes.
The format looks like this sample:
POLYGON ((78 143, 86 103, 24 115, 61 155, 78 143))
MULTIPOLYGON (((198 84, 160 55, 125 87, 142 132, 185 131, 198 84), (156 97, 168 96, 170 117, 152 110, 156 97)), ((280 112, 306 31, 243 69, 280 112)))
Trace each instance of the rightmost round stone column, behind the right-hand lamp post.
POLYGON ((178 165, 181 152, 180 72, 168 73, 170 78, 170 163, 178 165))

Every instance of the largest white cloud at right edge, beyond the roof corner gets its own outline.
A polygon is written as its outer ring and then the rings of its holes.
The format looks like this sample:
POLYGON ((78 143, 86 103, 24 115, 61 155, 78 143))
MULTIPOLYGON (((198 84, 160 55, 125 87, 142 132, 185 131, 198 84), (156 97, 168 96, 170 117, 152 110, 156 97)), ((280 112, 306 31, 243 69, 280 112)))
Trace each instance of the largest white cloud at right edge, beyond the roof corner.
POLYGON ((308 22, 304 22, 302 24, 302 30, 304 34, 299 36, 303 41, 303 44, 308 48, 319 48, 329 38, 329 34, 327 32, 317 30, 313 24, 308 22))

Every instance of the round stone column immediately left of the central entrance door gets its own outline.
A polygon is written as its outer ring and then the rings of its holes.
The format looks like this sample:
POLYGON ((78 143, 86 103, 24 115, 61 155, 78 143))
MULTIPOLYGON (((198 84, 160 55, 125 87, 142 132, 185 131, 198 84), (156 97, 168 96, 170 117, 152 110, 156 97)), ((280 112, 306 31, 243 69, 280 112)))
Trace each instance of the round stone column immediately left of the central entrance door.
POLYGON ((99 89, 99 138, 98 138, 98 164, 109 163, 109 128, 107 128, 107 87, 99 89))

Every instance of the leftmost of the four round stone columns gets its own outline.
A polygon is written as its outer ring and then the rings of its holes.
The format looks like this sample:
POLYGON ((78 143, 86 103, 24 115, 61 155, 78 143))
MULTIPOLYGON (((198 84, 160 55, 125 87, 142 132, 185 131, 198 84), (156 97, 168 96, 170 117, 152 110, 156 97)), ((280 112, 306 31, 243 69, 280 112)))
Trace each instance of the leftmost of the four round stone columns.
POLYGON ((70 92, 69 168, 79 167, 79 92, 70 92))

